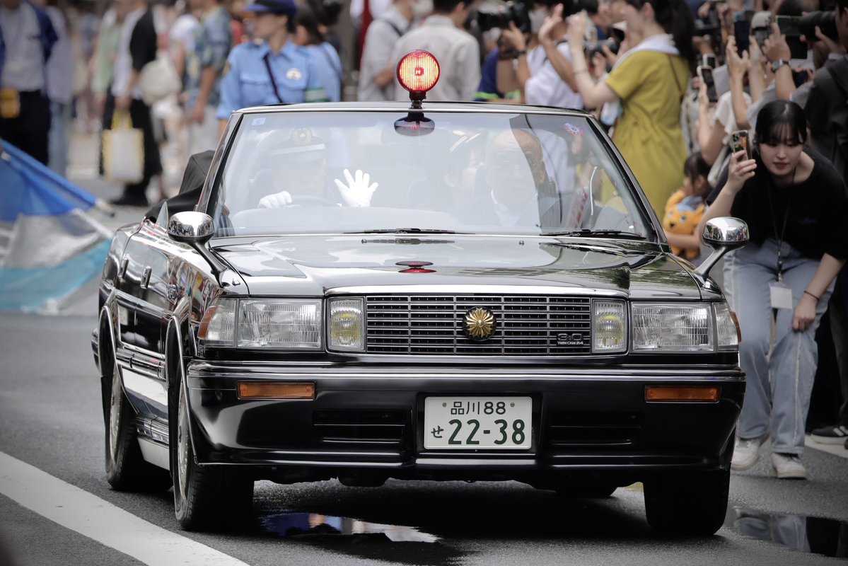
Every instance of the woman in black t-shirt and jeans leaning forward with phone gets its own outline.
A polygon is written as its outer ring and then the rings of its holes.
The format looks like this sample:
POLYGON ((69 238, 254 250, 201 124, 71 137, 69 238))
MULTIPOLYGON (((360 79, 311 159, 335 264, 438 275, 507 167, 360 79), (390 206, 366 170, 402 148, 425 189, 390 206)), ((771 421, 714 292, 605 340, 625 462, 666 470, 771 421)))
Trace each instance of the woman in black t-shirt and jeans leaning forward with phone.
POLYGON ((800 457, 816 328, 848 257, 848 190, 833 165, 804 147, 806 118, 798 104, 763 106, 754 141, 754 159, 744 151, 732 156, 728 181, 707 199, 700 225, 736 216, 750 228, 750 243, 724 262, 747 374, 732 468, 753 466, 771 436, 778 478, 806 479, 800 457))

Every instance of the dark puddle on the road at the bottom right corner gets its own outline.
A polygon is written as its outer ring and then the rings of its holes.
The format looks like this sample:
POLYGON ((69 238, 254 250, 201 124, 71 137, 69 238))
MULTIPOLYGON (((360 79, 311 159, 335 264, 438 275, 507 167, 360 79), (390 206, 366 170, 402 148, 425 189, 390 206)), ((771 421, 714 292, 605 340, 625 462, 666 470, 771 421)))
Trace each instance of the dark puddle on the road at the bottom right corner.
POLYGON ((796 551, 848 558, 848 523, 845 522, 733 507, 728 508, 724 524, 742 535, 776 542, 796 551))

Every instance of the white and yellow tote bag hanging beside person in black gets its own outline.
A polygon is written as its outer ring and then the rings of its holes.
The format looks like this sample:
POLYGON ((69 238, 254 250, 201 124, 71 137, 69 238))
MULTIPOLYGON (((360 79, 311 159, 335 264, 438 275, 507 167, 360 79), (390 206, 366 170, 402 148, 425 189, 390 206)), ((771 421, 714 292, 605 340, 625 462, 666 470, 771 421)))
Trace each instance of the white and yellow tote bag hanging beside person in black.
POLYGON ((112 129, 103 130, 103 176, 121 184, 144 177, 144 132, 132 127, 128 112, 116 109, 112 129))

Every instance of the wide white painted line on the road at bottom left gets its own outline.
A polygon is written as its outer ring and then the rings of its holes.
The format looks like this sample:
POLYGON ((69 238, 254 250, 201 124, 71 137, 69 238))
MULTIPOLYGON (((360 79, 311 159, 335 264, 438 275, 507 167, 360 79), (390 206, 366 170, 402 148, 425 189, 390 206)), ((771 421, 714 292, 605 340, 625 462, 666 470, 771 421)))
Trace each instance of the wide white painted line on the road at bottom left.
POLYGON ((248 566, 157 527, 75 485, 0 452, 0 493, 54 523, 150 566, 248 566))

